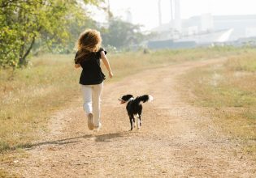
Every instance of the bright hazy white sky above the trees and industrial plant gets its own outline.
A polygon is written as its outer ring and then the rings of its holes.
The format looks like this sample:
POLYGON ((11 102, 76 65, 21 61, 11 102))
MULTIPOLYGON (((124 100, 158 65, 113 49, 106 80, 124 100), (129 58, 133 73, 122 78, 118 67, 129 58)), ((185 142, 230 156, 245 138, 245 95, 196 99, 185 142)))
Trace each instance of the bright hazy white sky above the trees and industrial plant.
MULTIPOLYGON (((114 15, 124 16, 129 9, 132 23, 140 23, 145 29, 158 26, 158 0, 110 0, 114 15)), ((162 22, 171 19, 170 0, 161 0, 162 22)), ((252 15, 256 14, 256 0, 180 0, 182 19, 193 15, 252 15)))

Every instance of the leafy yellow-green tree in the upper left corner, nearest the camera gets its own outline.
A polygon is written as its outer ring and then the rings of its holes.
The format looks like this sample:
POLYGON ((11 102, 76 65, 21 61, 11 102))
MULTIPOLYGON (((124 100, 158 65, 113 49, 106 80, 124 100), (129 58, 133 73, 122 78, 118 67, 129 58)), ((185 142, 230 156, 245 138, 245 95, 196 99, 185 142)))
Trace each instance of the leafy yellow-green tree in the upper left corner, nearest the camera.
MULTIPOLYGON (((0 0, 0 66, 27 65, 35 41, 62 43, 74 21, 86 19, 79 0, 0 0)), ((97 5, 102 0, 85 0, 97 5)))

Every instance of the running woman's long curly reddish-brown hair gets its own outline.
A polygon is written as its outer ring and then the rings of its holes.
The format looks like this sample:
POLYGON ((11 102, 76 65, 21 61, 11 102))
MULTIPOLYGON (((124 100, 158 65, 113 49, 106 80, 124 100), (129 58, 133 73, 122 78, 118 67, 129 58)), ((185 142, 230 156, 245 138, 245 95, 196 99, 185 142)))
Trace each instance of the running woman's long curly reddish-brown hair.
POLYGON ((97 30, 88 29, 80 34, 77 41, 77 55, 75 58, 76 63, 87 59, 93 52, 98 52, 102 44, 102 37, 97 30))

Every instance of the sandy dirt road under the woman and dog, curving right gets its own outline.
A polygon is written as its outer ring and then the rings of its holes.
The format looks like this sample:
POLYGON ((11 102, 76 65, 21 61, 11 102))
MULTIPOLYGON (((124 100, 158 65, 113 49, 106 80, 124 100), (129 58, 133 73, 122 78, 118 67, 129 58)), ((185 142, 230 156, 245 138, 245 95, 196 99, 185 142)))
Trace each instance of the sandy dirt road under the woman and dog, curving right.
POLYGON ((107 84, 102 129, 87 128, 81 100, 59 111, 50 134, 26 152, 11 171, 24 177, 256 177, 256 168, 237 142, 221 134, 202 108, 183 102, 180 74, 221 62, 186 62, 145 70, 107 84), (154 96, 144 104, 142 128, 129 132, 124 94, 154 96))

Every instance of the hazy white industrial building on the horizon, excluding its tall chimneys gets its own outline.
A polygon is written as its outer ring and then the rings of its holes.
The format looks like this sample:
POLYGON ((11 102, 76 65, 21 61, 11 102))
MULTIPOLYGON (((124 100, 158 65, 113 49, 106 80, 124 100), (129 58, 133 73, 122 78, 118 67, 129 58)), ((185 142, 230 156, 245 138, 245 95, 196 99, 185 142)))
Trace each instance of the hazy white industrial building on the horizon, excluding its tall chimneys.
POLYGON ((225 44, 239 39, 256 37, 256 15, 215 15, 210 14, 182 19, 180 30, 177 30, 175 19, 152 29, 158 36, 149 42, 171 41, 167 48, 184 44, 207 45, 225 44), (187 43, 186 43, 187 42, 187 43))

